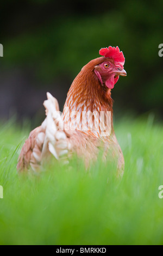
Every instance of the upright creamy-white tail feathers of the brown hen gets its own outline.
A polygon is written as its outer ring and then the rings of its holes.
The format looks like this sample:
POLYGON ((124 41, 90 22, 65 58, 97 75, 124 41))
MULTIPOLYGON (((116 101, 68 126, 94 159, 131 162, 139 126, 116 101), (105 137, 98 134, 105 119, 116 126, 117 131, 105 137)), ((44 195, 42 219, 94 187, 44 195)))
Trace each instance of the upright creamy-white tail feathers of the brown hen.
POLYGON ((63 120, 58 101, 47 93, 47 100, 43 102, 43 106, 46 109, 46 118, 41 124, 41 131, 36 136, 32 159, 30 159, 33 170, 38 169, 47 153, 51 153, 57 160, 59 156, 68 153, 67 136, 62 130, 63 120))

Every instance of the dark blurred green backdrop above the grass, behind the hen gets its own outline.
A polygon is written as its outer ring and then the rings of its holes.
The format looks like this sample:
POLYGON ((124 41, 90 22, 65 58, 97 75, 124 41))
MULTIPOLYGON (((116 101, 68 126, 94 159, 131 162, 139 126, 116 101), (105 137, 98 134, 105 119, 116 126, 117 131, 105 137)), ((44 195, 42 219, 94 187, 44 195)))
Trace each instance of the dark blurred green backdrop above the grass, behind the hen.
POLYGON ((154 112, 162 117, 163 2, 1 2, 0 117, 44 119, 51 92, 64 106, 71 83, 101 47, 119 46, 127 77, 112 90, 116 116, 154 112))

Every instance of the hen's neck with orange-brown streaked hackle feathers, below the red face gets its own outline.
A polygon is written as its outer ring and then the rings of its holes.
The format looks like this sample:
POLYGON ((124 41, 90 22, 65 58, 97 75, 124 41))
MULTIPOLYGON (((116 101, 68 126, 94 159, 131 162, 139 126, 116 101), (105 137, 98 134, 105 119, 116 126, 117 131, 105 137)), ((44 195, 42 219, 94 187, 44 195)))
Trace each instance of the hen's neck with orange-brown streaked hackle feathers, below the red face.
POLYGON ((77 112, 78 115, 75 123, 73 123, 77 130, 101 137, 101 129, 98 130, 95 126, 100 122, 102 126, 106 126, 107 114, 109 117, 109 124, 107 123, 107 125, 110 125, 111 131, 113 130, 111 90, 102 86, 94 70, 86 66, 74 79, 68 91, 62 113, 66 125, 74 120, 74 112, 77 112), (86 115, 84 115, 85 112, 86 115), (73 114, 71 115, 71 113, 73 114), (104 117, 102 117, 102 113, 104 117), (86 125, 84 126, 86 129, 83 129, 83 125, 86 125))

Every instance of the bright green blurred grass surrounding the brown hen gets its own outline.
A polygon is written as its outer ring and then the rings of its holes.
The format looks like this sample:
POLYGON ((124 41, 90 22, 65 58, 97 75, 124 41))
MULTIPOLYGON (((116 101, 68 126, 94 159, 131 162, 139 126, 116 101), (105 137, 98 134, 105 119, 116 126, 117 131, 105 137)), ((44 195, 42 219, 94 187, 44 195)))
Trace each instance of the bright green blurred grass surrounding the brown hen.
POLYGON ((122 180, 98 161, 89 172, 53 160, 40 175, 18 175, 18 149, 29 129, 0 130, 1 245, 163 244, 163 125, 124 119, 115 124, 123 150, 122 180))

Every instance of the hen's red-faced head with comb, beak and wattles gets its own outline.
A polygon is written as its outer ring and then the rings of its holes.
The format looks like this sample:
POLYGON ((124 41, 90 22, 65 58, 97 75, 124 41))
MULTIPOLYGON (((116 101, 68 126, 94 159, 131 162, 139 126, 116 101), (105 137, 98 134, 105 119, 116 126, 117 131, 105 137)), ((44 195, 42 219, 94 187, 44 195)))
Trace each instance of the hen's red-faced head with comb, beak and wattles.
POLYGON ((115 83, 118 81, 119 76, 126 76, 127 73, 123 69, 124 56, 118 46, 108 48, 101 48, 99 54, 101 57, 101 63, 95 66, 95 74, 102 85, 105 84, 109 89, 114 88, 115 83))

